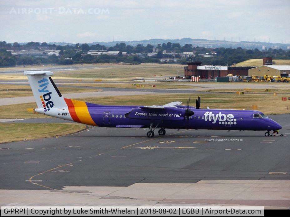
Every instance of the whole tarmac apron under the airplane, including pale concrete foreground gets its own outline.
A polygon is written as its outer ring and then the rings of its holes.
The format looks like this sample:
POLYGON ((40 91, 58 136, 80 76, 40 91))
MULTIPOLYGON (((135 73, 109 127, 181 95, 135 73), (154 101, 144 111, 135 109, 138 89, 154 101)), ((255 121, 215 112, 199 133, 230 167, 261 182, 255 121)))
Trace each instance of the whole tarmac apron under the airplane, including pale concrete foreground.
MULTIPOLYGON (((290 133, 289 114, 270 118, 282 125, 281 133, 290 133)), ((289 209, 289 135, 168 129, 165 136, 156 132, 148 138, 147 131, 94 127, 68 136, 0 144, 0 205, 289 209)))

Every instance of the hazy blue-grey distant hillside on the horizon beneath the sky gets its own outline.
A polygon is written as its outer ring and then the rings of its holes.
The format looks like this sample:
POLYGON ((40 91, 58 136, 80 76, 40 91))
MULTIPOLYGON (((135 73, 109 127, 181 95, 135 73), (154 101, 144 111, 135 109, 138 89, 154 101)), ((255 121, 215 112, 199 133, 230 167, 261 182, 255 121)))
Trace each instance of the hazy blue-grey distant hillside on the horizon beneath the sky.
POLYGON ((92 44, 100 44, 105 46, 114 46, 116 43, 125 43, 126 45, 136 46, 138 44, 143 44, 146 46, 147 44, 151 44, 157 46, 158 44, 163 44, 167 42, 171 43, 179 43, 181 46, 185 44, 192 44, 193 47, 207 47, 207 48, 217 48, 217 47, 225 47, 225 48, 246 48, 246 49, 259 49, 262 50, 263 46, 266 46, 267 49, 272 48, 282 48, 286 50, 290 44, 282 44, 282 43, 267 43, 260 41, 219 41, 219 40, 207 40, 207 39, 192 39, 192 38, 182 38, 182 39, 150 39, 150 40, 141 40, 141 41, 110 41, 110 42, 99 42, 95 41, 92 44))

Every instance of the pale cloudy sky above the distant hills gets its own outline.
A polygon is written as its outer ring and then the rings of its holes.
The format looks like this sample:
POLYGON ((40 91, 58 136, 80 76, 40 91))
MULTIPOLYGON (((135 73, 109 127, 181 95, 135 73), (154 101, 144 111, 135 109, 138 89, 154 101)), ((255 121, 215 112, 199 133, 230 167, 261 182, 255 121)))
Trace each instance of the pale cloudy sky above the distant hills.
POLYGON ((289 0, 0 0, 0 41, 290 43, 289 0))

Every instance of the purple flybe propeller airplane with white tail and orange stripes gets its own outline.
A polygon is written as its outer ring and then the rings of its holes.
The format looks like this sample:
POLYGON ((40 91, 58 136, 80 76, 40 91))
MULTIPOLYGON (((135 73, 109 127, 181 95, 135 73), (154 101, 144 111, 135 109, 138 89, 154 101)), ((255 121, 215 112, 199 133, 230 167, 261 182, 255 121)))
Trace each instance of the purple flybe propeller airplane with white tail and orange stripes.
POLYGON ((63 98, 54 84, 50 71, 24 71, 36 99, 36 112, 98 127, 149 128, 148 137, 155 129, 165 135, 165 129, 259 130, 270 135, 281 125, 255 110, 201 109, 172 102, 153 106, 99 105, 63 98))

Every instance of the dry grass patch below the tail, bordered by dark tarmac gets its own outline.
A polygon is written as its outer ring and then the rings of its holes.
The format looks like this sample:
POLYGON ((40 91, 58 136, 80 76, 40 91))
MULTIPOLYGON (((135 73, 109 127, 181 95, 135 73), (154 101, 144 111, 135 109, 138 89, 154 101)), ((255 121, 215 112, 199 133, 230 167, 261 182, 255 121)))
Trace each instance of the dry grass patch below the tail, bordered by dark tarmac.
POLYGON ((0 143, 61 136, 85 128, 77 123, 0 123, 0 143))

